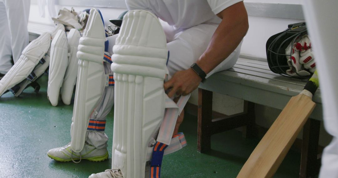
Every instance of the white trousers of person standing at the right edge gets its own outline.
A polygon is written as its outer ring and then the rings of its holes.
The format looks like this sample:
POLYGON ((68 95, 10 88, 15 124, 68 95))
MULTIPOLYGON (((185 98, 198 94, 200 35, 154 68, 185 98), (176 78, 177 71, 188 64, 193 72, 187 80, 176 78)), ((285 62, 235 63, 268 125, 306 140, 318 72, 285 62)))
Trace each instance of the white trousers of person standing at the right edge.
POLYGON ((305 18, 317 61, 324 126, 333 136, 322 155, 320 178, 338 178, 337 0, 304 0, 305 18))

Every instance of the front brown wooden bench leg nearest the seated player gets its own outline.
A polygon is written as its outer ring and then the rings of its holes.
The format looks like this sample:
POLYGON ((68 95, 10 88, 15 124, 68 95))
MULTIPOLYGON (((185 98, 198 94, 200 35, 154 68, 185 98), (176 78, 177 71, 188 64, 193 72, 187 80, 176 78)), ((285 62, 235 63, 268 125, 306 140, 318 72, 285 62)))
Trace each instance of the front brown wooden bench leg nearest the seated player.
POLYGON ((212 92, 198 89, 197 151, 211 150, 212 92), (202 119, 203 118, 203 119, 202 119))

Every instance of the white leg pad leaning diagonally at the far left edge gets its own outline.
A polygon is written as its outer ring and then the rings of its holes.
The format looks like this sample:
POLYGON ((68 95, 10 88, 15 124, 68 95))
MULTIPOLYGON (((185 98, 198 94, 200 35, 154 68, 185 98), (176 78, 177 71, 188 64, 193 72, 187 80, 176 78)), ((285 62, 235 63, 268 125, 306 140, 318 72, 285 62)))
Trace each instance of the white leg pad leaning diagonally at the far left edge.
POLYGON ((0 80, 0 96, 8 89, 14 87, 33 71, 40 59, 46 54, 50 47, 50 34, 43 33, 37 39, 30 42, 22 51, 19 60, 10 68, 6 75, 0 80))

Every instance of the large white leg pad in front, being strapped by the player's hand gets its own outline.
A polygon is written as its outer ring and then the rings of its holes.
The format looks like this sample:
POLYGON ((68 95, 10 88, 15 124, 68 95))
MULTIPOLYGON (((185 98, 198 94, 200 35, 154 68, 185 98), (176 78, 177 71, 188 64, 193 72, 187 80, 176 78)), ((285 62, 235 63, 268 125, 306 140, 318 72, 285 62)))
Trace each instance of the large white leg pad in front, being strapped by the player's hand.
POLYGON ((168 49, 154 14, 129 11, 113 47, 115 80, 112 169, 144 178, 150 140, 164 117, 168 49))

